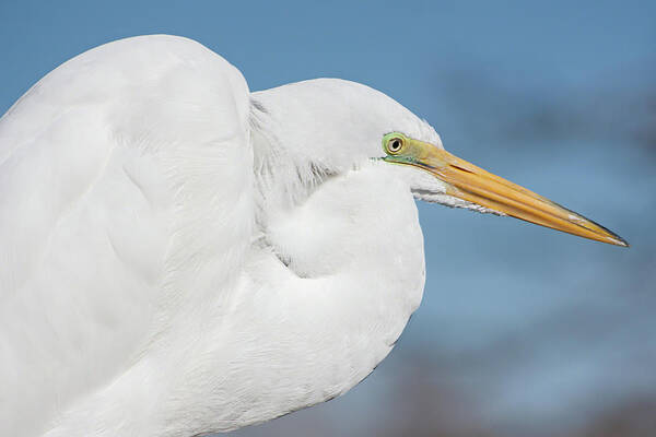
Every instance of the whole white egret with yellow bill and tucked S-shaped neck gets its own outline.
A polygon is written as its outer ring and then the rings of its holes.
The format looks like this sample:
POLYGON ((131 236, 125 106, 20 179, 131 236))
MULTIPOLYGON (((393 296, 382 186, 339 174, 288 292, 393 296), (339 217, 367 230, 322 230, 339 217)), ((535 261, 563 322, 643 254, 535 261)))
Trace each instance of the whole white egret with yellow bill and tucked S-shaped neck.
POLYGON ((47 74, 0 165, 2 436, 187 437, 347 392, 420 304, 414 199, 626 246, 383 93, 251 93, 174 36, 47 74))

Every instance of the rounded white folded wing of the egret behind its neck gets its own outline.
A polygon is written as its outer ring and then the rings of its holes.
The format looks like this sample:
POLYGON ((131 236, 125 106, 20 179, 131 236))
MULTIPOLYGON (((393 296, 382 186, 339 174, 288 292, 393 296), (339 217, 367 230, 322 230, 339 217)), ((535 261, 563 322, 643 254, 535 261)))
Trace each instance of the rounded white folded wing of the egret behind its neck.
POLYGON ((0 434, 43 432, 221 298, 253 222, 248 111, 223 58, 148 36, 66 62, 2 117, 0 434))

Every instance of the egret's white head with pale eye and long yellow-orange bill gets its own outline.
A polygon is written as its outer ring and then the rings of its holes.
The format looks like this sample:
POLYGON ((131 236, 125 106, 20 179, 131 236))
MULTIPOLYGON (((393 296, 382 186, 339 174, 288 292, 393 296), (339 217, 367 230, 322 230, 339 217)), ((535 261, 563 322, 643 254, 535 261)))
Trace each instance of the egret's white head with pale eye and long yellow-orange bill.
POLYGON ((307 186, 321 179, 317 174, 339 175, 366 163, 394 165, 400 168, 393 173, 419 200, 629 246, 583 215, 448 153, 427 122, 366 85, 317 79, 256 93, 256 98, 267 108, 266 125, 278 144, 260 155, 278 157, 269 167, 285 180, 301 177, 300 185, 307 186))

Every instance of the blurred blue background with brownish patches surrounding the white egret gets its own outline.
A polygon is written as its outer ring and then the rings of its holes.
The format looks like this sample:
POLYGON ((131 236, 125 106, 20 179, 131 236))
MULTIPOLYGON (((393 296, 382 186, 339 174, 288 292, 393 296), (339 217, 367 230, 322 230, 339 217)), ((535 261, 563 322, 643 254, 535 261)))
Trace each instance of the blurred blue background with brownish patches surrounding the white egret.
POLYGON ((447 150, 633 247, 422 204, 426 290, 397 349, 345 397, 235 435, 601 435, 656 405, 655 17, 654 1, 2 0, 0 113, 67 59, 152 33, 198 39, 254 91, 389 94, 447 150))

